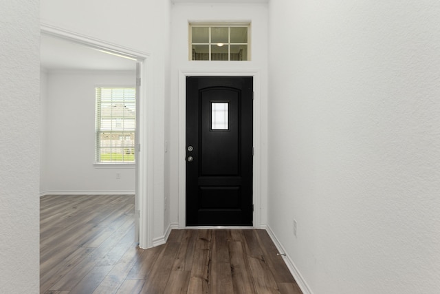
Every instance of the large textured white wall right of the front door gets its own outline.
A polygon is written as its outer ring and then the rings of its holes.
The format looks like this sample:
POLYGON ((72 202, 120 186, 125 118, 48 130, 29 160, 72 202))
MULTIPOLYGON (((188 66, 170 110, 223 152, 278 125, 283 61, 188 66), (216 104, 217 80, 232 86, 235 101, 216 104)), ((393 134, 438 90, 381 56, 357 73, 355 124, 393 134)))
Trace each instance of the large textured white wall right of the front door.
POLYGON ((269 224, 310 293, 440 293, 439 19, 270 1, 269 224))

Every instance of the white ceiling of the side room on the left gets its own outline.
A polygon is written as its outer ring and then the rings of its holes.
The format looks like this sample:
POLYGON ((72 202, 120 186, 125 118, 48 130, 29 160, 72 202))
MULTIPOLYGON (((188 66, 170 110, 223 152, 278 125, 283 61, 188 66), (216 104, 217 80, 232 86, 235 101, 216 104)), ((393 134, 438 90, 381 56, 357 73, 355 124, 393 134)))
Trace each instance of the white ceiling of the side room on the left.
POLYGON ((51 70, 135 70, 136 61, 41 34, 41 67, 51 70))

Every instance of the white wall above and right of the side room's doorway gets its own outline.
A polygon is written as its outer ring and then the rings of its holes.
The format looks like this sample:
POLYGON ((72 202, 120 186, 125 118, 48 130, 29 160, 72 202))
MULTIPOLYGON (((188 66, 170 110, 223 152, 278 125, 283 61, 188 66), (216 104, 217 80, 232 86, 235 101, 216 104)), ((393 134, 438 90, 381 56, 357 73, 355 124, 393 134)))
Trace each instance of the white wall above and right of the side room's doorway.
MULTIPOLYGON (((151 149, 141 145, 143 155, 151 157, 148 175, 151 185, 145 187, 153 195, 148 204, 153 221, 153 238, 164 235, 164 101, 165 89, 169 87, 166 78, 165 60, 169 47, 170 1, 163 0, 41 0, 41 21, 60 30, 87 36, 123 48, 149 54, 148 77, 145 89, 147 101, 142 107, 148 109, 145 120, 151 120, 140 137, 153 142, 151 149), (146 105, 146 103, 150 103, 146 105), (153 226, 154 224, 154 226, 153 226)), ((168 58, 168 56, 167 56, 168 58)), ((145 81, 144 81, 145 82, 145 81)), ((144 207, 147 205, 142 203, 144 207)), ((149 217, 149 216, 148 216, 149 217)), ((142 236, 141 236, 142 238, 142 236)), ((148 239, 150 239, 148 237, 148 239)))

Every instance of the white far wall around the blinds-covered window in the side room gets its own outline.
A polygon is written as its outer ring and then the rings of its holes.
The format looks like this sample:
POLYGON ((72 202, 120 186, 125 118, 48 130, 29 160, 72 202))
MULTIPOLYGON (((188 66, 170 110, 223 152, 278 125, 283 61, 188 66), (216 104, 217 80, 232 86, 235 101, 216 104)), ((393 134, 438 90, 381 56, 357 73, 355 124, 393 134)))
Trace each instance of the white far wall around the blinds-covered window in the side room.
POLYGON ((134 165, 94 165, 94 131, 95 88, 135 87, 135 72, 49 72, 46 76, 41 193, 134 193, 134 165))

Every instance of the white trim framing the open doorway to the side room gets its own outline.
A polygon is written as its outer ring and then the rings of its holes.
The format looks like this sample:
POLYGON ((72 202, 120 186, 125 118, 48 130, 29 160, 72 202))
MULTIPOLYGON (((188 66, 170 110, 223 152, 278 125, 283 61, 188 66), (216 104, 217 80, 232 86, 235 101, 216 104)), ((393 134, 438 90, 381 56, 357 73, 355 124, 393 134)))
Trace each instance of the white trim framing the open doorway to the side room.
POLYGON ((41 23, 41 33, 56 36, 61 39, 72 41, 80 45, 90 48, 96 48, 122 56, 131 57, 137 60, 139 69, 137 74, 141 78, 139 85, 140 95, 137 103, 137 129, 136 129, 136 187, 135 187, 135 238, 139 242, 141 248, 149 248, 153 246, 153 167, 148 162, 153 162, 153 129, 154 117, 149 115, 154 113, 152 101, 151 66, 150 54, 125 48, 123 46, 108 43, 99 39, 94 39, 83 34, 70 32, 63 28, 57 28, 53 25, 41 23), (149 73, 149 74, 148 74, 149 73), (151 105, 151 107, 148 107, 151 105))

